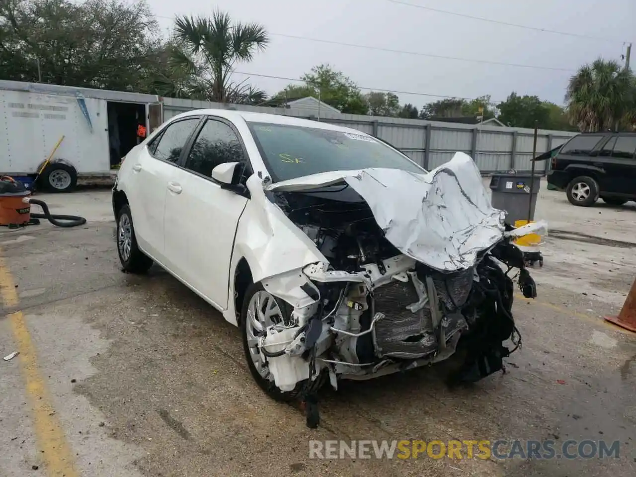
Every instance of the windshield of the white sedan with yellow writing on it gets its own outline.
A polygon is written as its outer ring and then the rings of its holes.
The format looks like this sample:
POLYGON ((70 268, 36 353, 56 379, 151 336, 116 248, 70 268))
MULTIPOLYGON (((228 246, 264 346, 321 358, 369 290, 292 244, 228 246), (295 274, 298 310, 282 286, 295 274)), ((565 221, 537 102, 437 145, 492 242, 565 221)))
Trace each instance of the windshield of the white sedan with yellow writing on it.
POLYGON ((247 124, 275 182, 368 167, 425 172, 395 149, 367 135, 252 121, 247 124))

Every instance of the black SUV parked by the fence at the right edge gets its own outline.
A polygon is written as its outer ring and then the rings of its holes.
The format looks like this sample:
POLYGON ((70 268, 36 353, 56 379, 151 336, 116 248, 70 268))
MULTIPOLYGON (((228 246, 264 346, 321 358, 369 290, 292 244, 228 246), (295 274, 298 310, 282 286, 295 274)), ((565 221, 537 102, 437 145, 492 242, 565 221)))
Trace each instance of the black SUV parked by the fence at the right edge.
POLYGON ((636 200, 636 132, 586 132, 572 137, 551 159, 548 183, 583 207, 599 197, 611 205, 636 200))

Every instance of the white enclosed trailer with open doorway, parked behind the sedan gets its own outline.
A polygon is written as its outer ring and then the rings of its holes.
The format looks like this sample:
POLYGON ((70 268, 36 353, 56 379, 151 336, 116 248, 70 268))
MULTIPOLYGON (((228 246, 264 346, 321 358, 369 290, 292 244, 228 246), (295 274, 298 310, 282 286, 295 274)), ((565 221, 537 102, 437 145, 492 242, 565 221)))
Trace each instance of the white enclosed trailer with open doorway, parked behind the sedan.
POLYGON ((114 174, 142 141, 138 126, 162 122, 156 95, 0 81, 0 174, 34 179, 55 150, 38 181, 71 191, 78 176, 114 174))

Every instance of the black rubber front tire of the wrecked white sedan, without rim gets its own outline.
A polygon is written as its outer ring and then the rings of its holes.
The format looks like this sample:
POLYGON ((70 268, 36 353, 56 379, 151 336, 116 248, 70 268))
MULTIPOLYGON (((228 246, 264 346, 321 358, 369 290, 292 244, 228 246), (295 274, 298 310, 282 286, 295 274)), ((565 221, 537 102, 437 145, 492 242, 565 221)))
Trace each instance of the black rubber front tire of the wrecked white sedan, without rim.
MULTIPOLYGON (((254 378, 256 384, 258 384, 258 386, 263 389, 263 391, 265 391, 268 396, 272 397, 276 401, 294 401, 297 399, 302 399, 308 392, 318 391, 325 382, 325 373, 321 373, 321 375, 317 377, 313 382, 309 382, 308 380, 298 382, 296 384, 296 387, 292 391, 281 391, 280 388, 277 387, 277 385, 273 381, 273 377, 270 380, 267 377, 261 375, 261 372, 256 367, 257 365, 254 361, 255 359, 260 361, 259 358, 252 358, 252 355, 256 355, 256 353, 258 352, 258 347, 254 349, 254 347, 251 347, 250 345, 250 341, 252 340, 253 342, 253 337, 256 335, 256 333, 254 333, 254 327, 251 326, 251 321, 247 317, 247 312, 250 309, 252 299, 254 299, 257 294, 261 298, 261 303, 263 302, 263 298, 275 301, 275 305, 280 310, 280 315, 282 315, 281 318, 284 323, 289 322, 292 311, 291 306, 288 303, 268 293, 260 282, 251 284, 249 287, 247 287, 240 314, 240 331, 243 341, 243 349, 245 352, 245 361, 247 362, 247 368, 249 369, 252 378, 254 378), (252 350, 254 350, 254 352, 252 352, 252 350)), ((269 307, 270 304, 268 302, 265 302, 263 303, 263 306, 269 307)), ((263 370, 263 368, 266 368, 266 365, 263 366, 262 361, 260 364, 260 368, 261 370, 263 370)), ((263 372, 268 373, 269 371, 263 372)))

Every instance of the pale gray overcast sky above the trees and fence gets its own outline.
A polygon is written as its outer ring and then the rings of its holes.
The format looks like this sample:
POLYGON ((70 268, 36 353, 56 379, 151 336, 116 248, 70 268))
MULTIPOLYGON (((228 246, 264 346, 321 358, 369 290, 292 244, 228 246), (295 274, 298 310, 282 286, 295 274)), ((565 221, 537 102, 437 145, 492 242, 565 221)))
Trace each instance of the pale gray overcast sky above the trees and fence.
MULTIPOLYGON (((214 8, 235 20, 265 25, 270 45, 237 71, 299 78, 312 66, 328 63, 361 88, 420 93, 398 93, 401 102, 418 108, 440 99, 423 93, 466 98, 490 94, 499 102, 516 91, 563 104, 567 81, 577 67, 599 56, 622 61, 623 43, 636 43, 636 0, 399 0, 595 38, 457 17, 390 0, 147 1, 156 15, 168 17, 158 18, 164 31, 174 15, 209 15, 214 8), (368 50, 282 35, 553 69, 368 50)), ((636 69, 636 52, 631 63, 636 69)), ((273 94, 290 81, 252 76, 249 82, 273 94)))

